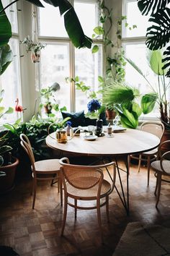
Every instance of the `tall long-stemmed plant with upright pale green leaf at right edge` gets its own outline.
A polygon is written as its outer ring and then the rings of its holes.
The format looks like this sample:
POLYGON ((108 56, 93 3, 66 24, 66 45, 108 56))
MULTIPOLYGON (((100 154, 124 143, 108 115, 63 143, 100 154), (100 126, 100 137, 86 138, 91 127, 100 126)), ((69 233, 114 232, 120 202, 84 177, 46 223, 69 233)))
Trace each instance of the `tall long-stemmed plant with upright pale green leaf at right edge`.
POLYGON ((135 68, 135 70, 146 80, 148 86, 153 91, 153 94, 156 95, 156 102, 159 106, 160 111, 160 119, 164 123, 166 129, 170 129, 170 116, 169 116, 169 101, 167 92, 170 88, 169 80, 166 80, 167 69, 164 69, 164 64, 162 63, 163 54, 161 50, 150 51, 148 50, 146 53, 146 58, 148 61, 148 67, 151 68, 153 74, 157 77, 156 85, 152 85, 151 82, 148 81, 146 75, 139 69, 139 67, 130 59, 126 58, 126 60, 130 63, 130 65, 135 68))

